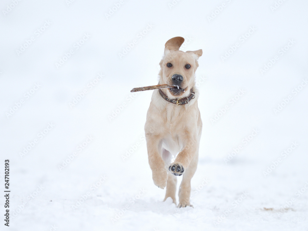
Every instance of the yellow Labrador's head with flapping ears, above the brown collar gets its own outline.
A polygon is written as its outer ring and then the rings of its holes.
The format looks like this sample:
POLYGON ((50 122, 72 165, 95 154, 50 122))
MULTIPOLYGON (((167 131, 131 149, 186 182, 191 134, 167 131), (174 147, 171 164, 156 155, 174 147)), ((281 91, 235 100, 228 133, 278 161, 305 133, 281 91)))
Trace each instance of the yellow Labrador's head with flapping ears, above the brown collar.
POLYGON ((160 84, 173 86, 165 90, 170 98, 186 97, 195 84, 195 72, 202 50, 179 51, 184 38, 174 37, 165 44, 164 57, 160 61, 160 84))

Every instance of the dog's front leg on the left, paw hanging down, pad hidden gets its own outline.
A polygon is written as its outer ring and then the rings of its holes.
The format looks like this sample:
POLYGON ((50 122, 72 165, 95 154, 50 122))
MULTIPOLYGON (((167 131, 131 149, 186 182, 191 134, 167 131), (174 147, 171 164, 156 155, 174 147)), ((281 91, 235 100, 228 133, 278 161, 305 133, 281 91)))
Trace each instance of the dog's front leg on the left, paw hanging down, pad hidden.
POLYGON ((152 134, 146 134, 145 137, 147 140, 148 159, 154 184, 164 189, 167 184, 168 172, 165 162, 159 152, 160 138, 152 134))

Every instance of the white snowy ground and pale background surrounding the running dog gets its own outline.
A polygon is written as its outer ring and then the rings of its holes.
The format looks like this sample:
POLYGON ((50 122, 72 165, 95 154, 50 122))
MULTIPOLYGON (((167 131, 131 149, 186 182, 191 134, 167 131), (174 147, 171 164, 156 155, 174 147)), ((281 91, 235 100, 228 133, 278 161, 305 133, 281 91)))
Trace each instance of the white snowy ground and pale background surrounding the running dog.
POLYGON ((3 0, 0 10, 0 188, 9 159, 11 190, 1 230, 308 230, 307 1, 3 0), (152 91, 130 93, 158 83, 175 36, 203 50, 194 208, 181 209, 152 182, 152 91))

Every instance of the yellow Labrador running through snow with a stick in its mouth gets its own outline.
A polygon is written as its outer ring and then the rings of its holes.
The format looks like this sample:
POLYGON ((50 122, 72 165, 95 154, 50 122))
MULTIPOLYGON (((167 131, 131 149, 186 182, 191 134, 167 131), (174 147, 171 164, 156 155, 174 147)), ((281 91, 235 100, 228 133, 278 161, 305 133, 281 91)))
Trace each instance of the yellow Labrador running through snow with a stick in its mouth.
POLYGON ((184 38, 175 37, 165 44, 159 84, 174 88, 154 90, 144 126, 154 184, 159 188, 167 186, 164 201, 171 197, 176 204, 177 176, 183 175, 179 208, 192 206, 190 180, 197 169, 202 130, 195 87, 202 50, 179 51, 183 42, 184 38), (176 156, 173 163, 172 156, 176 156))

